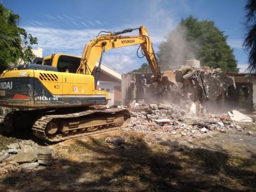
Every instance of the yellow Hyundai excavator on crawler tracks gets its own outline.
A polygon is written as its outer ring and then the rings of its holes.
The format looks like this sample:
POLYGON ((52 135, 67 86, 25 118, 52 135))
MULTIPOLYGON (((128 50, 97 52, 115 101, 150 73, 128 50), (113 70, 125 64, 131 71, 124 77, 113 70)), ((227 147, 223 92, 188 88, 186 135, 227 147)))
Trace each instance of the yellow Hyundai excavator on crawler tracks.
POLYGON ((107 93, 96 90, 103 53, 133 45, 140 45, 154 78, 161 81, 153 44, 143 26, 101 31, 86 44, 81 58, 55 54, 44 58, 42 65, 23 64, 4 71, 0 75, 0 106, 29 109, 7 114, 4 125, 7 129, 29 126, 36 137, 59 142, 102 133, 129 121, 127 110, 93 106, 108 103, 107 93), (134 30, 139 30, 138 36, 122 35, 134 30))

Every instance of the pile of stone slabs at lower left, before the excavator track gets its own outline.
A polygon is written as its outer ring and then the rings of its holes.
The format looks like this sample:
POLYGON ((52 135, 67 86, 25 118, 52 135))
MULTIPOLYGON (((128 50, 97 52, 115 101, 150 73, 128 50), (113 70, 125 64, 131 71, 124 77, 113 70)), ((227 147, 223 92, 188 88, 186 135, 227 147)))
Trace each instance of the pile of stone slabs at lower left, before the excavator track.
POLYGON ((30 172, 53 165, 53 150, 40 147, 33 141, 22 141, 7 145, 8 150, 0 152, 0 176, 30 172))

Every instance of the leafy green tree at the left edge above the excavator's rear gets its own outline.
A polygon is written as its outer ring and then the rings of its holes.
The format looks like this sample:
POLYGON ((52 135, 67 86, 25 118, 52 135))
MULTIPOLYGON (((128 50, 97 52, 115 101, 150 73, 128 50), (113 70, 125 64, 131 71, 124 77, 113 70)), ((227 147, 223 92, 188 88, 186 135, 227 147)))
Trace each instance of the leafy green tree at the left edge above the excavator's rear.
POLYGON ((28 62, 28 57, 35 57, 31 49, 37 44, 37 38, 18 27, 19 21, 18 14, 0 3, 0 72, 11 63, 28 62))

